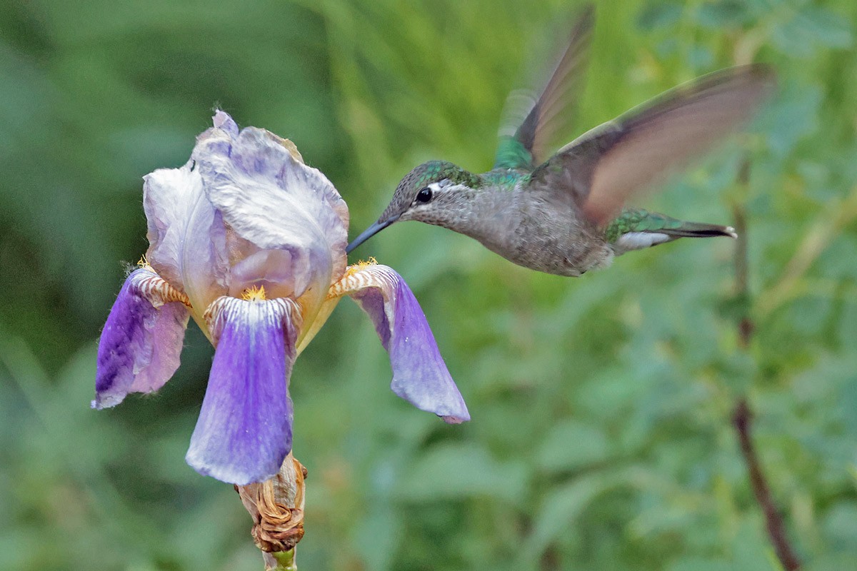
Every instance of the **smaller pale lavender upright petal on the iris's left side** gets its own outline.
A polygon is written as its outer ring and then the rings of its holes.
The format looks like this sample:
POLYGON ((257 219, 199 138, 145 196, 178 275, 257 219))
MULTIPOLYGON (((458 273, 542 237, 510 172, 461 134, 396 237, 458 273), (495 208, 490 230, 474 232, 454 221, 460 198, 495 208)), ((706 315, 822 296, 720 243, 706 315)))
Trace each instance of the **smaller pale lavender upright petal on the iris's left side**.
MULTIPOLYGON (((212 129, 209 129, 212 130, 212 129)), ((189 161, 144 177, 149 264, 201 311, 228 288, 225 227, 189 161)))

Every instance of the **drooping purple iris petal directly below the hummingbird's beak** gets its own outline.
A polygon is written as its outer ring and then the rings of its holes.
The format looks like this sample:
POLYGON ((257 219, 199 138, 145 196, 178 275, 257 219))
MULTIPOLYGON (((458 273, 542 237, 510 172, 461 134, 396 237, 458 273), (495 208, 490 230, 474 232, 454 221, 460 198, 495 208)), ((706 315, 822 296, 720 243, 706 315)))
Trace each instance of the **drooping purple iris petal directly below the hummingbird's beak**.
POLYGON ((470 420, 470 413, 428 327, 425 314, 405 280, 386 265, 351 266, 331 294, 351 294, 375 323, 390 354, 390 388, 415 407, 449 423, 470 420))

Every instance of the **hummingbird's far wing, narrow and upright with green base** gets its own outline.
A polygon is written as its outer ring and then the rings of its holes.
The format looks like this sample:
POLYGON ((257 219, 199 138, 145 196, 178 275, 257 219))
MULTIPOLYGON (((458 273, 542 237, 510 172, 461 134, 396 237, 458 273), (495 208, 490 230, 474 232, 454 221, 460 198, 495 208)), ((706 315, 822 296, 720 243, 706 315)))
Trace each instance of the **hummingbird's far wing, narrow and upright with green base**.
MULTIPOLYGON (((532 170, 548 157, 551 146, 557 141, 557 135, 568 136, 572 108, 577 100, 579 87, 583 82, 583 70, 589 51, 592 24, 595 21, 595 9, 591 4, 584 6, 578 15, 560 62, 551 74, 548 85, 535 104, 524 108, 529 110, 524 121, 514 134, 506 134, 506 126, 500 128, 500 146, 494 159, 494 169, 532 170)), ((515 107, 515 99, 521 94, 513 92, 506 104, 515 107)), ((531 101, 531 99, 530 99, 531 101)), ((512 116, 519 116, 512 111, 512 116)), ((509 122, 512 122, 513 119, 509 122)), ((517 122, 512 123, 512 128, 517 122)))

